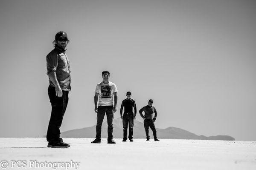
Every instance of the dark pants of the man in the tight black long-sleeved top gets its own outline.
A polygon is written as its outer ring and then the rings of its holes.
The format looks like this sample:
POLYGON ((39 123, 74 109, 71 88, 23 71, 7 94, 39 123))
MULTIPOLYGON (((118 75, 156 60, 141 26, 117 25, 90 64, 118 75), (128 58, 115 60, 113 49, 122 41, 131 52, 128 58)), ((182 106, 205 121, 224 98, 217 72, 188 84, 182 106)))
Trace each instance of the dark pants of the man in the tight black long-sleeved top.
POLYGON ((133 137, 133 126, 134 126, 134 114, 133 113, 124 113, 123 115, 123 128, 124 128, 124 138, 123 139, 127 139, 127 128, 128 128, 128 124, 129 124, 129 136, 128 138, 131 140, 133 137))

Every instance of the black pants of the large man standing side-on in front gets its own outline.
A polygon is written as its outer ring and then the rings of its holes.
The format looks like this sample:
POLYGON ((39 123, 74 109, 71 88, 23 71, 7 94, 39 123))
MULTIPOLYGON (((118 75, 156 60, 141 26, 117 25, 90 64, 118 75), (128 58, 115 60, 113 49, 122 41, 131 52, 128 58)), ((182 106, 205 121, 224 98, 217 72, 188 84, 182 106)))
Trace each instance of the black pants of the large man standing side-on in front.
POLYGON ((55 94, 55 87, 49 86, 48 95, 52 104, 52 113, 47 130, 47 141, 55 143, 60 138, 60 127, 63 120, 64 113, 67 108, 68 92, 62 90, 62 97, 57 97, 55 94))

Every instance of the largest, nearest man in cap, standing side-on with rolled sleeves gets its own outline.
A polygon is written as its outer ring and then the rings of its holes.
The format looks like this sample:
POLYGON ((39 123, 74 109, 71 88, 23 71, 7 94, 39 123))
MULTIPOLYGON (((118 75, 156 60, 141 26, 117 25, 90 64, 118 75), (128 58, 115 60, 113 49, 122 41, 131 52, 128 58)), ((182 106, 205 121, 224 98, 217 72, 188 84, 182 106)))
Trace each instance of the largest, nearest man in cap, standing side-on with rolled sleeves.
POLYGON ((52 105, 51 118, 47 130, 47 147, 70 147, 60 138, 60 127, 67 108, 70 87, 70 65, 66 55, 69 43, 67 33, 60 31, 53 41, 54 49, 47 55, 47 75, 49 77, 48 95, 52 105))

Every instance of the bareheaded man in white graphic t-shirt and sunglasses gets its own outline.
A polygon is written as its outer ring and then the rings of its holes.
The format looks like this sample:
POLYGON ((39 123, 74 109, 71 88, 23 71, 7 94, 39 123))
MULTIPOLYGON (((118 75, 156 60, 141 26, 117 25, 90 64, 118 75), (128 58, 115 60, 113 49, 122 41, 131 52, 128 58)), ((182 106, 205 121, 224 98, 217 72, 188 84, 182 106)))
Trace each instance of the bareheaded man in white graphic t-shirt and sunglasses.
POLYGON ((116 143, 115 141, 113 141, 113 113, 116 112, 117 88, 116 84, 109 81, 109 77, 110 73, 108 71, 103 71, 103 81, 97 84, 95 89, 94 111, 97 113, 96 139, 91 143, 100 144, 101 142, 101 127, 105 113, 107 115, 108 122, 108 144, 116 143), (97 107, 98 98, 99 107, 97 107))

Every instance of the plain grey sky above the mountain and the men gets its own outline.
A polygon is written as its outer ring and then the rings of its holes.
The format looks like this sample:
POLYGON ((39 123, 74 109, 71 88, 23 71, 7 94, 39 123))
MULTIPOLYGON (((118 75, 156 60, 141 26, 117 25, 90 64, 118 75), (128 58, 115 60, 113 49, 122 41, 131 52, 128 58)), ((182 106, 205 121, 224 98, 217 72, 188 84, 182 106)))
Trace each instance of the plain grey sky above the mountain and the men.
MULTIPOLYGON (((254 0, 0 1, 0 137, 47 132, 46 55, 56 32, 70 44, 70 101, 61 131, 96 124, 101 72, 121 101, 154 100, 159 128, 256 141, 254 0)), ((140 116, 137 120, 142 121, 140 116)))

